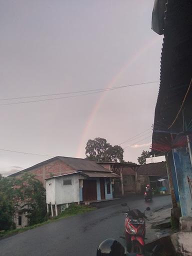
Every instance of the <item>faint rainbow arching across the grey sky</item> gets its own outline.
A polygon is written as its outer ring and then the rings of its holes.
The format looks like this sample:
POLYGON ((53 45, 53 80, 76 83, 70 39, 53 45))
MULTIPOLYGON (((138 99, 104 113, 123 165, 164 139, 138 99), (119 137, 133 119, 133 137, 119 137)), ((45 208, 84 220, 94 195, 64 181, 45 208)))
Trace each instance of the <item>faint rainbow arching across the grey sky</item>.
MULTIPOLYGON (((156 42, 160 41, 161 37, 160 36, 155 36, 152 40, 149 40, 143 47, 141 47, 136 54, 132 55, 132 57, 120 68, 120 70, 117 72, 116 75, 114 75, 112 77, 112 79, 110 80, 110 82, 106 85, 105 88, 111 88, 112 86, 114 86, 114 84, 118 81, 118 78, 120 78, 120 76, 126 71, 126 69, 133 64, 134 62, 136 62, 136 60, 143 54, 145 53, 147 50, 149 50, 156 42)), ((117 84, 115 84, 117 85, 117 84)), ((88 138, 86 137, 89 129, 91 128, 91 125, 93 123, 94 117, 99 109, 99 106, 101 105, 102 101, 104 100, 104 97, 106 95, 106 91, 101 92, 99 98, 97 99, 96 103, 94 104, 92 111, 90 112, 86 123, 84 125, 84 129, 82 131, 81 137, 80 137, 80 142, 78 144, 77 147, 77 152, 76 152, 76 157, 82 157, 82 155, 84 155, 84 148, 85 148, 85 144, 84 142, 88 140, 88 138)))

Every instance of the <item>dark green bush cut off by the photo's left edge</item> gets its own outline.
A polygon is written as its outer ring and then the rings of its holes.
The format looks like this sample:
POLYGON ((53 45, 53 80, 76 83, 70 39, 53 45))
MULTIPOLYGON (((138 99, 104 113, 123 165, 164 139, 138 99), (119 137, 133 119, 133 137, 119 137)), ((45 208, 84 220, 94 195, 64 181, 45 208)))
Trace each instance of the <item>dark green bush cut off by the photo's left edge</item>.
POLYGON ((12 180, 0 174, 0 230, 15 227, 13 196, 12 180))

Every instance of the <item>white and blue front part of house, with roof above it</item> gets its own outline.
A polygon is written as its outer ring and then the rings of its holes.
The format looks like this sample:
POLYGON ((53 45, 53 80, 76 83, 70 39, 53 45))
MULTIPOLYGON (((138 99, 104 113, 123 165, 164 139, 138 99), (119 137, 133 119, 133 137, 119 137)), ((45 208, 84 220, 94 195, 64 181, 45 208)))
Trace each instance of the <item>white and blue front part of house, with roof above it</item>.
POLYGON ((45 178, 47 211, 52 216, 69 203, 112 199, 112 179, 119 175, 86 159, 70 158, 70 166, 76 171, 45 178))

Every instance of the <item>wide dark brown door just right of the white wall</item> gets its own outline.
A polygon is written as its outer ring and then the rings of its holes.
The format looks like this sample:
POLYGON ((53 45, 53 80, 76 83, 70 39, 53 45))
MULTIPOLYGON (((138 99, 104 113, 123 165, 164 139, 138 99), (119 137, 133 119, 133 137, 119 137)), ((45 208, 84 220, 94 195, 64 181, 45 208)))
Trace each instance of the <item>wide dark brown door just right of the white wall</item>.
POLYGON ((82 199, 83 201, 93 201, 97 199, 96 180, 83 179, 82 199))

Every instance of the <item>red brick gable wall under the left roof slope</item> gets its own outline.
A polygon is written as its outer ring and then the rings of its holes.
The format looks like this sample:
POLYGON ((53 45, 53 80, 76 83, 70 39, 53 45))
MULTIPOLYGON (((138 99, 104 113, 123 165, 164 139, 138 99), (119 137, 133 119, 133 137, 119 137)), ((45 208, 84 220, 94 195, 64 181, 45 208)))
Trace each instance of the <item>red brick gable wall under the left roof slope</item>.
MULTIPOLYGON (((44 187, 45 187, 45 178, 48 178, 50 176, 57 176, 65 173, 74 172, 75 170, 65 164, 63 161, 59 159, 55 159, 53 161, 47 162, 45 164, 42 164, 36 168, 33 168, 31 170, 28 170, 28 173, 32 173, 36 176, 38 180, 40 180, 44 187)), ((18 174, 15 176, 16 178, 19 178, 21 174, 18 174)))

